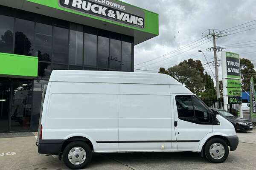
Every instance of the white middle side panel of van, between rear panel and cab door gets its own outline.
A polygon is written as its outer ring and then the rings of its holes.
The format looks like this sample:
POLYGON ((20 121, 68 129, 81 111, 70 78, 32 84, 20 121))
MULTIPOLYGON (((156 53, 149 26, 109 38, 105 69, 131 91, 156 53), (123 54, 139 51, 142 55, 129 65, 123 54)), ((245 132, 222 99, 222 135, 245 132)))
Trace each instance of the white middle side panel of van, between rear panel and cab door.
POLYGON ((169 92, 169 85, 120 84, 119 152, 171 150, 169 92))

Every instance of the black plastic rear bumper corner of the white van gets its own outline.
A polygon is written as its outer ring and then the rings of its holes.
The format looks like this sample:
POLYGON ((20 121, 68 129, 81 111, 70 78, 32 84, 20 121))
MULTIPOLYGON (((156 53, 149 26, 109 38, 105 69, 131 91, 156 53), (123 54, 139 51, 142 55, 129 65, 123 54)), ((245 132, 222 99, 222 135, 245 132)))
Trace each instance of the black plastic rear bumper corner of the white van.
POLYGON ((47 155, 58 155, 64 140, 39 140, 38 153, 47 155))

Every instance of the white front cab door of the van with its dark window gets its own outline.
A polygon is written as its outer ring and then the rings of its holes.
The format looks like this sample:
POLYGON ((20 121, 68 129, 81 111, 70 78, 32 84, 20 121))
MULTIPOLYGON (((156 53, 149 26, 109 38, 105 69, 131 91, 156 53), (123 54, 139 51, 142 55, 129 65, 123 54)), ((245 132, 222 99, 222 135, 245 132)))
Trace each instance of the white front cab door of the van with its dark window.
POLYGON ((211 111, 194 95, 174 94, 177 150, 198 150, 200 141, 212 133, 211 111))

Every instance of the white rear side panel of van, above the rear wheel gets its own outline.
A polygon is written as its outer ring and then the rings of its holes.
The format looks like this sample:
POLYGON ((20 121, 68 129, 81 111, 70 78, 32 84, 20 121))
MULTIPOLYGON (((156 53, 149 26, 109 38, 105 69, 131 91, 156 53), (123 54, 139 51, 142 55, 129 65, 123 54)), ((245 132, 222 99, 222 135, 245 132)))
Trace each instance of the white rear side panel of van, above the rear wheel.
POLYGON ((52 82, 44 139, 86 137, 95 152, 117 152, 119 85, 52 82))

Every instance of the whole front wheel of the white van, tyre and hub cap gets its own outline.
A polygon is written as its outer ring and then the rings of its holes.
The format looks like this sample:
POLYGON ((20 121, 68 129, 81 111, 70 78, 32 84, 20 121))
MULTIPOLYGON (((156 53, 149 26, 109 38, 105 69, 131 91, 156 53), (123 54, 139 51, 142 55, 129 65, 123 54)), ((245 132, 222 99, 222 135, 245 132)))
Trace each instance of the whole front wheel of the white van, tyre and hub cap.
POLYGON ((227 143, 221 138, 210 139, 204 148, 206 159, 211 163, 224 162, 229 154, 227 143))

